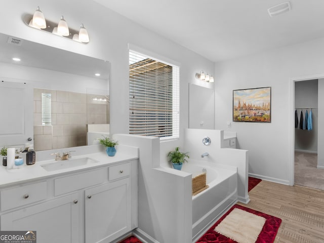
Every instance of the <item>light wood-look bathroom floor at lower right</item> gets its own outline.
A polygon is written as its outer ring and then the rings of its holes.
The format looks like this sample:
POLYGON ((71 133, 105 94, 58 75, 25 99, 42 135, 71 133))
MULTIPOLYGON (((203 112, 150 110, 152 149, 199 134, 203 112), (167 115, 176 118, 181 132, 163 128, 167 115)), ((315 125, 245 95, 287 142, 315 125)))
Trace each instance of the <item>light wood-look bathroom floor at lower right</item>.
POLYGON ((324 243, 324 191, 261 181, 247 208, 282 220, 274 243, 324 243))

